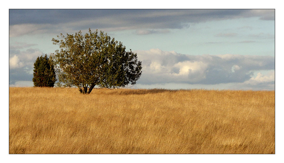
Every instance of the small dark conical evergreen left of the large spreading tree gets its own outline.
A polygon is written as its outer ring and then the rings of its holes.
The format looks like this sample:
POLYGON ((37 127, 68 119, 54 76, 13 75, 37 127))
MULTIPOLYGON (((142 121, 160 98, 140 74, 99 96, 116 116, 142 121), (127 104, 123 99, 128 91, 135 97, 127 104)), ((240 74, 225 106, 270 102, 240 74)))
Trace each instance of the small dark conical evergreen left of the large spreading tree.
POLYGON ((37 57, 33 70, 33 85, 35 87, 53 87, 56 81, 54 66, 46 56, 37 57))

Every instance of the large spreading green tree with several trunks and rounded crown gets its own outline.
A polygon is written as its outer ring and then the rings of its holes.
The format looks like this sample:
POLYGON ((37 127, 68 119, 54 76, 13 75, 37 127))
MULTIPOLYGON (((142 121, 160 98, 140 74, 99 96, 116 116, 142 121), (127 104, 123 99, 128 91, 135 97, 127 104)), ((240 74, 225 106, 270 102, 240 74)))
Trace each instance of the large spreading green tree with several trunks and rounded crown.
POLYGON ((121 42, 111 39, 98 29, 82 35, 60 34, 58 39, 52 39, 54 45, 59 45, 51 55, 59 87, 78 87, 79 91, 89 94, 100 88, 120 88, 128 84, 136 84, 141 76, 141 61, 137 54, 125 51, 121 42))

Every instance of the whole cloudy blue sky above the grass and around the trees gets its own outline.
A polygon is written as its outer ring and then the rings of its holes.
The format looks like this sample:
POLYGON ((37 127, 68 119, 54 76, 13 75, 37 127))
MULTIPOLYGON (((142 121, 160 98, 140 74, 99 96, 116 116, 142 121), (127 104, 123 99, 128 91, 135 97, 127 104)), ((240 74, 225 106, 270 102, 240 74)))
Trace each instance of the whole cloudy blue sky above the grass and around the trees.
POLYGON ((275 90, 274 9, 9 9, 9 86, 60 33, 96 29, 142 61, 132 88, 275 90))

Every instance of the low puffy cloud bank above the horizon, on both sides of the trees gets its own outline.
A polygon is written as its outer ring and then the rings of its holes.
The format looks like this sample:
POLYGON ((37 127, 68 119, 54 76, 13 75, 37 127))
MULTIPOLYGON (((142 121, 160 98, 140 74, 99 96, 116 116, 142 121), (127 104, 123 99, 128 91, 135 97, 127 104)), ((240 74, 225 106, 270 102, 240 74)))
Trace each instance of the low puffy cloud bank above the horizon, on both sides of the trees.
MULTIPOLYGON (((23 45, 27 47, 27 45, 23 45)), ((275 89, 275 57, 252 55, 185 55, 160 49, 136 50, 142 61, 137 85, 147 88, 177 85, 211 88, 232 84, 230 89, 275 89), (268 73, 259 73, 259 71, 268 73), (215 87, 216 86, 216 87, 215 87)), ((37 49, 10 49, 9 86, 32 86, 33 63, 44 55, 37 49)), ((138 87, 139 88, 139 87, 138 87)))

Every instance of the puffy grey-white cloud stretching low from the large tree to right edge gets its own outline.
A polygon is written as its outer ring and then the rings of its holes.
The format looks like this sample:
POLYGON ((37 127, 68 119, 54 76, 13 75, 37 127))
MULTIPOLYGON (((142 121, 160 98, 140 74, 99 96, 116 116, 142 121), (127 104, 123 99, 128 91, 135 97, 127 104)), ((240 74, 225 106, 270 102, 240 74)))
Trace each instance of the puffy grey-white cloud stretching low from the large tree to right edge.
POLYGON ((275 57, 272 56, 183 55, 159 49, 135 52, 143 67, 139 84, 246 82, 244 84, 251 85, 256 83, 252 78, 254 71, 275 69, 275 57))

